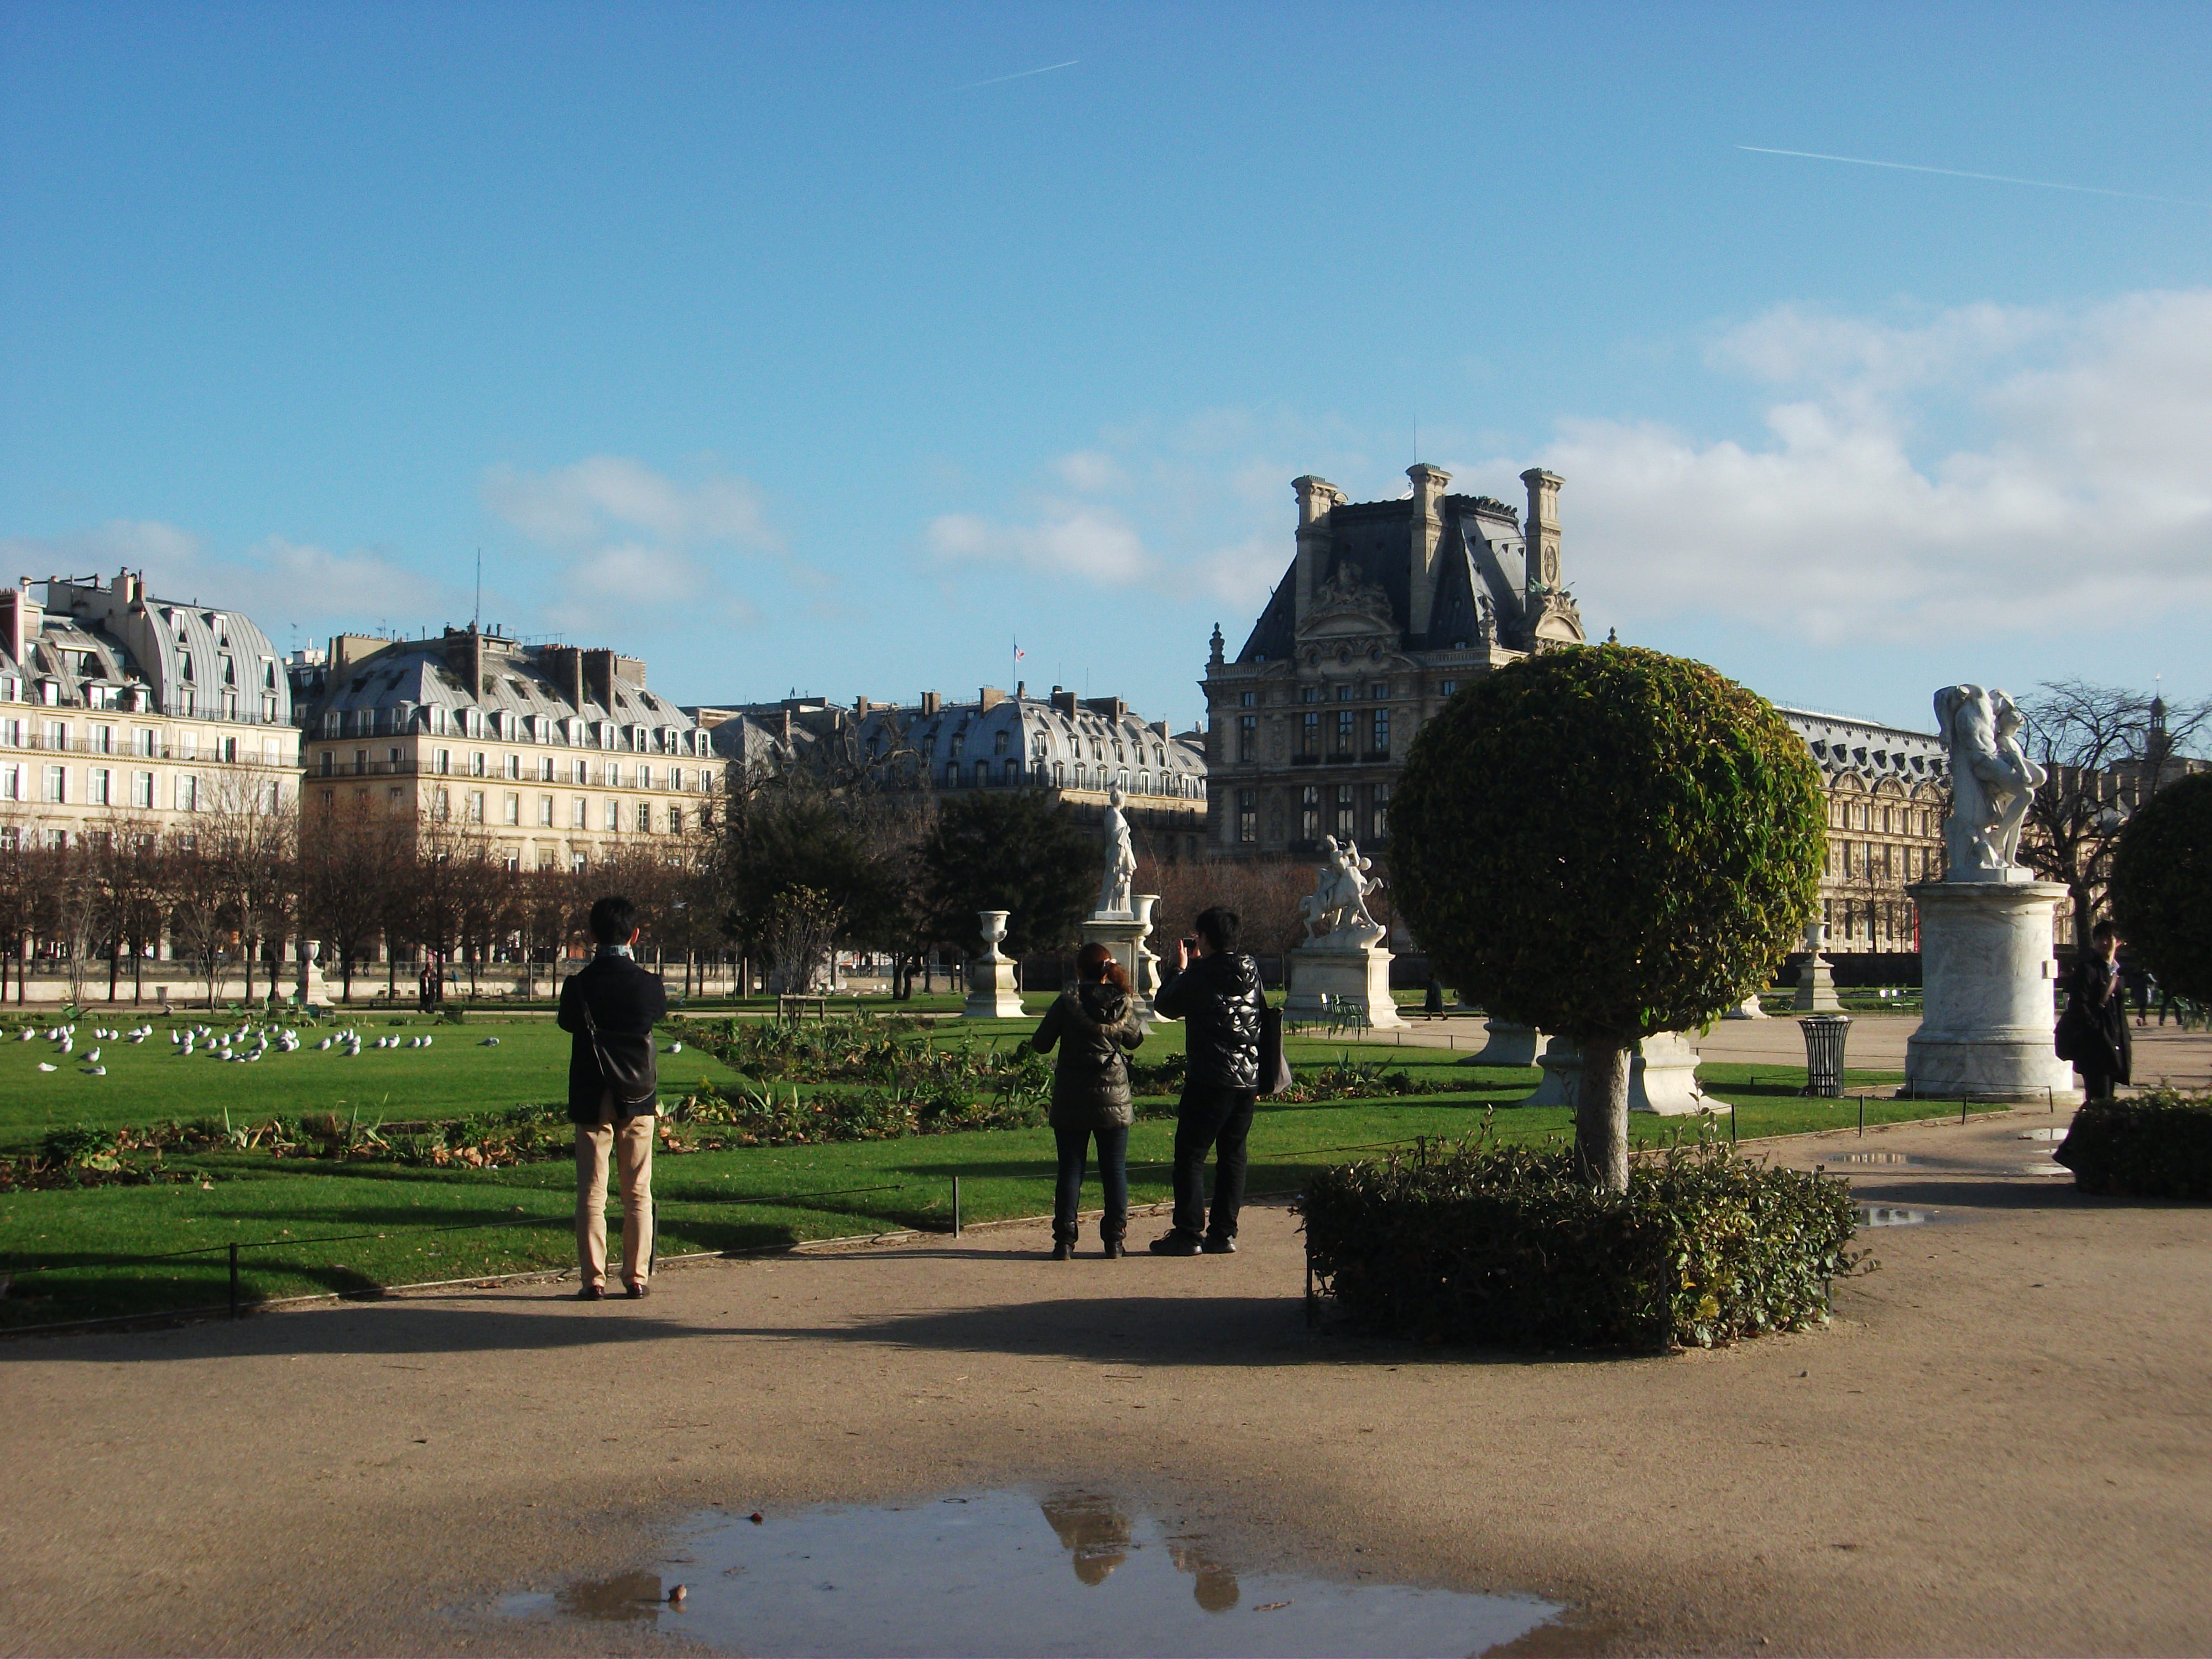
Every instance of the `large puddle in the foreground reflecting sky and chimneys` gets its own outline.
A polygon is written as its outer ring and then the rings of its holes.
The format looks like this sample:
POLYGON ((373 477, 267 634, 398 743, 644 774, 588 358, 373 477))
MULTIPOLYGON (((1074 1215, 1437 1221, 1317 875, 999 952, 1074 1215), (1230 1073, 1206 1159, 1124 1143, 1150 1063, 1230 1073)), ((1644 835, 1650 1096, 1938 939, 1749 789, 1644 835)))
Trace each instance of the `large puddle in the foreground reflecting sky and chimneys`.
POLYGON ((664 1573, 509 1595, 524 1619, 657 1621, 759 1655, 1471 1655, 1562 1613, 1467 1595, 1239 1568, 1212 1540, 1093 1491, 712 1513, 664 1573), (668 1593, 686 1586, 681 1606, 668 1593))

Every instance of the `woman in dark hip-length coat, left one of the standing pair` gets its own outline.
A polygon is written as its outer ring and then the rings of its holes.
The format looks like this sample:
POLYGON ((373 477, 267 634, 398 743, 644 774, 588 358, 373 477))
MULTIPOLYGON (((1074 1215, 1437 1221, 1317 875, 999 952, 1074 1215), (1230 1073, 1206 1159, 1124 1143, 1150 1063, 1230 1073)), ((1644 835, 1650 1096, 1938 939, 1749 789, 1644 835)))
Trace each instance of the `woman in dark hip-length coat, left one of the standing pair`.
POLYGON ((1029 1040, 1037 1053, 1060 1044, 1053 1064, 1053 1139, 1060 1144, 1060 1190, 1053 1194, 1053 1261, 1075 1254, 1075 1208, 1084 1190, 1084 1155, 1099 1146, 1099 1186, 1106 1217, 1099 1243, 1119 1256, 1128 1232, 1128 1060, 1126 1048, 1144 1042, 1128 973, 1104 945, 1084 945, 1075 958, 1077 984, 1062 991, 1029 1040))

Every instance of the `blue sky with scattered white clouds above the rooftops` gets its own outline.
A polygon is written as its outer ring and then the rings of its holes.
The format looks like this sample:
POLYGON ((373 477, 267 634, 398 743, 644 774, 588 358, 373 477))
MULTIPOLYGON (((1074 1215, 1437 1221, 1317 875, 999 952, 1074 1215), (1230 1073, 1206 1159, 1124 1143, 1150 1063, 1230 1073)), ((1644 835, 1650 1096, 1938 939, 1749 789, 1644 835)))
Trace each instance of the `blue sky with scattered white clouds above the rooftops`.
POLYGON ((2208 84, 2203 7, 0 4, 0 580, 307 644, 482 549, 686 701, 1020 637, 1181 726, 1418 425, 1781 701, 2212 695, 2208 84))

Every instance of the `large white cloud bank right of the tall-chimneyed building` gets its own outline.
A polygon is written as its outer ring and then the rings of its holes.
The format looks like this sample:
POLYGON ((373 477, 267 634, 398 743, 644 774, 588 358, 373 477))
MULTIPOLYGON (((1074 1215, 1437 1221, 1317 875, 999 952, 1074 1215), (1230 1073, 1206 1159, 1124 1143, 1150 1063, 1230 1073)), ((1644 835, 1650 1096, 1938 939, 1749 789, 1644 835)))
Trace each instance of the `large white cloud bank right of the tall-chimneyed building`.
POLYGON ((1562 420, 1542 451, 1586 608, 1916 644, 2212 606, 2212 292, 1778 310, 1712 361, 1792 394, 1763 442, 1562 420), (1973 440, 1920 438, 1953 411, 1973 440))

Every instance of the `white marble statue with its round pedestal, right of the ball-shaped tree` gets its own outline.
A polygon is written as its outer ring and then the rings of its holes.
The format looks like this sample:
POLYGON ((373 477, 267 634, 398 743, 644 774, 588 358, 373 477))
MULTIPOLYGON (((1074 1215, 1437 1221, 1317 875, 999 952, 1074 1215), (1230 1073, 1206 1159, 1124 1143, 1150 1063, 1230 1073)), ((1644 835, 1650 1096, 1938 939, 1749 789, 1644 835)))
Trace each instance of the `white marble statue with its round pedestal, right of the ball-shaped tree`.
POLYGON ((1905 1095, 2073 1104, 2081 1091, 2053 1051, 2053 916, 2059 883, 2020 867, 2044 768, 2002 690, 1944 686, 1936 721, 1951 745, 1949 869, 1907 887, 1920 907, 1920 1029, 1905 1044, 1905 1095))

